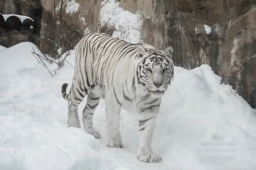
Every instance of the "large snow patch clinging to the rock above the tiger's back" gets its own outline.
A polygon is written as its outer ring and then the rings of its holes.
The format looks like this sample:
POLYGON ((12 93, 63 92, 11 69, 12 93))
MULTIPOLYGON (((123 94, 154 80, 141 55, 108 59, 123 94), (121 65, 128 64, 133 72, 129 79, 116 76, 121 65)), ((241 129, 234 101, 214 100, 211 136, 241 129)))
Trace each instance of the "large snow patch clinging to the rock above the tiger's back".
POLYGON ((140 28, 142 21, 140 14, 133 14, 130 11, 125 11, 119 7, 119 2, 114 0, 102 2, 100 10, 100 24, 101 27, 107 25, 114 27, 116 31, 113 32, 113 37, 118 37, 131 43, 140 42, 140 28))

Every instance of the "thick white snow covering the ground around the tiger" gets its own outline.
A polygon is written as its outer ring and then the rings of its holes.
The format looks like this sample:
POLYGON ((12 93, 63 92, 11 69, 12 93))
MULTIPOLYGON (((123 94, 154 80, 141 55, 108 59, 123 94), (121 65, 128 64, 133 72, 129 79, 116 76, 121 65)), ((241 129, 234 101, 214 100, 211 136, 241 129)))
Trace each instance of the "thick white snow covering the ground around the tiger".
MULTIPOLYGON (((209 65, 191 71, 175 67, 163 96, 152 148, 157 164, 136 159, 136 115, 121 111, 124 148, 105 146, 105 105, 93 117, 102 134, 67 127, 61 85, 73 79, 67 62, 51 77, 37 65, 31 42, 0 51, 0 169, 2 170, 254 170, 256 114, 230 85, 220 83, 209 65), (23 71, 20 71, 23 70, 23 71)), ((74 53, 67 57, 74 65, 74 53)), ((54 73, 55 63, 45 61, 54 73)), ((79 105, 79 118, 86 99, 79 105)), ((82 125, 82 121, 80 122, 82 125)), ((83 126, 82 126, 83 127, 83 126)))

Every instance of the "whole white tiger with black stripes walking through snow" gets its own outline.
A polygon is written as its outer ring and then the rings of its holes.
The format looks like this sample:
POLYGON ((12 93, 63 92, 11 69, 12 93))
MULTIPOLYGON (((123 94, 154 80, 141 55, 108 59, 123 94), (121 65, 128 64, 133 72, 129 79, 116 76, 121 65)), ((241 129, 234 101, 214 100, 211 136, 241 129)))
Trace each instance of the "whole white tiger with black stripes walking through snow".
POLYGON ((131 44, 103 33, 89 34, 75 46, 75 73, 69 94, 67 83, 62 96, 68 101, 68 127, 80 128, 78 105, 88 94, 83 110, 85 132, 95 138, 93 113, 100 98, 105 98, 108 147, 123 147, 119 132, 121 108, 134 108, 139 116, 137 158, 159 162, 151 149, 152 135, 160 109, 161 97, 173 79, 173 48, 160 51, 153 46, 131 44))

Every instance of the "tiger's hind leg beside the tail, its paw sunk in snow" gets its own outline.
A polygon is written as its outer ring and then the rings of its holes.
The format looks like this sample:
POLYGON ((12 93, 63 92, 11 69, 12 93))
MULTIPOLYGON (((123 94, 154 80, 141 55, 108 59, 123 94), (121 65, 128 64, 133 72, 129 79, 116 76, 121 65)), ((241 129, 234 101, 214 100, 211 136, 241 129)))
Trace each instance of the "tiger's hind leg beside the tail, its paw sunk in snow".
POLYGON ((67 125, 68 127, 81 128, 78 117, 78 105, 87 95, 87 89, 81 86, 81 82, 73 80, 68 101, 67 125))

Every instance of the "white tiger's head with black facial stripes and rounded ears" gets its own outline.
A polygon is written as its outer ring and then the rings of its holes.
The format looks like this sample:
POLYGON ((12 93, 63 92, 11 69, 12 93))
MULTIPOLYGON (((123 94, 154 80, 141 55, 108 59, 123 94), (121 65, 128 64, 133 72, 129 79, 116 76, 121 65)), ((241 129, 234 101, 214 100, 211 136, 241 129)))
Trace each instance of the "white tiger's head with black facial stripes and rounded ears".
POLYGON ((146 50, 143 45, 138 45, 137 52, 141 58, 137 66, 138 83, 143 85, 149 94, 162 96, 174 77, 172 46, 160 51, 158 49, 146 50))

